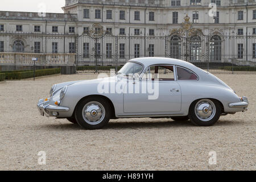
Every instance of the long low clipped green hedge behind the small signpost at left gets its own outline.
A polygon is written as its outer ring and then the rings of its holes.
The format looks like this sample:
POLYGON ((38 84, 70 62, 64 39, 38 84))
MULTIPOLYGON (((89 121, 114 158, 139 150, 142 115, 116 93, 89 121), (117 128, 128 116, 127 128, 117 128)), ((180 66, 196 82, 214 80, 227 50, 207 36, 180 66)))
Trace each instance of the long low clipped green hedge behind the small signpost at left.
MULTIPOLYGON (((35 71, 35 77, 46 76, 46 75, 54 75, 59 74, 60 68, 53 69, 39 69, 35 71)), ((10 72, 5 73, 6 80, 16 80, 16 79, 24 79, 24 78, 32 78, 34 77, 34 71, 23 71, 23 72, 10 72)))

